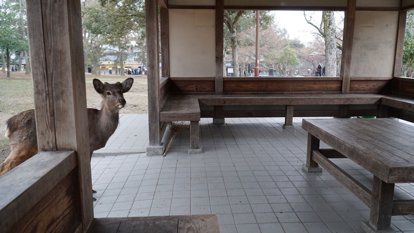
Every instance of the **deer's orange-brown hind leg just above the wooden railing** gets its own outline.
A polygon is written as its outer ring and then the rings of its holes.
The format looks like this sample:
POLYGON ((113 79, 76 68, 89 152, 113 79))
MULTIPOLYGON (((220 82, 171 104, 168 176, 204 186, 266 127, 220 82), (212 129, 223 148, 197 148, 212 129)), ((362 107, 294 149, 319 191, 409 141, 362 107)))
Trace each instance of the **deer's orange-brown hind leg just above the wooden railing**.
POLYGON ((30 159, 37 153, 37 145, 20 144, 10 145, 10 155, 0 164, 0 176, 17 167, 20 163, 30 159))

